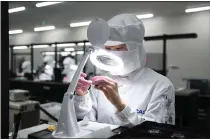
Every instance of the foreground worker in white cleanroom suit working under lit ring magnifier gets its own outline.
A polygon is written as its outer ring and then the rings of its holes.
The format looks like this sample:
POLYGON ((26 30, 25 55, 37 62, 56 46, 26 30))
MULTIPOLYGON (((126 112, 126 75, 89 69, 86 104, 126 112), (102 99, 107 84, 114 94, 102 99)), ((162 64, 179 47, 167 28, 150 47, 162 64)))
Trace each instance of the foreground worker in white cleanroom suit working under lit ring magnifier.
POLYGON ((144 121, 175 124, 174 87, 166 77, 146 67, 145 28, 136 16, 121 14, 108 21, 105 49, 121 57, 124 67, 91 87, 82 74, 74 97, 76 116, 132 127, 144 121))

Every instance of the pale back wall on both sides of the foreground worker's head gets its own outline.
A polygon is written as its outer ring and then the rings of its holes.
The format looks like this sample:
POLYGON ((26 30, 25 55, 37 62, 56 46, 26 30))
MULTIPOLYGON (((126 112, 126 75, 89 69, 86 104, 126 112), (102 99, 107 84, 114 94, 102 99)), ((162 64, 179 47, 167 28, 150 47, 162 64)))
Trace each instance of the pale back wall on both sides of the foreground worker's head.
MULTIPOLYGON (((167 42, 168 65, 180 67, 170 74, 170 78, 176 86, 185 85, 181 80, 182 77, 210 79, 209 16, 209 11, 204 11, 143 20, 146 36, 176 33, 198 34, 197 39, 167 42)), ((48 32, 26 32, 10 36, 10 44, 84 40, 87 39, 86 30, 86 27, 68 27, 48 32)), ((162 53, 162 42, 145 42, 145 48, 149 53, 162 53)))

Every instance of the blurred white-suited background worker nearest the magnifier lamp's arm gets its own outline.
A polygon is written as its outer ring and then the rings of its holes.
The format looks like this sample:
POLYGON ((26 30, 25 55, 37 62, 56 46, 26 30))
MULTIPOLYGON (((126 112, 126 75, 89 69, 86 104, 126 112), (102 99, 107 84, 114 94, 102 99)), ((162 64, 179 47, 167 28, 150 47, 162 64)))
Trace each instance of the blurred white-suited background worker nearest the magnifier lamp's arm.
POLYGON ((74 59, 72 59, 71 57, 66 57, 63 60, 63 66, 64 70, 62 74, 65 75, 65 77, 63 78, 63 82, 71 82, 77 70, 77 65, 75 64, 74 59))

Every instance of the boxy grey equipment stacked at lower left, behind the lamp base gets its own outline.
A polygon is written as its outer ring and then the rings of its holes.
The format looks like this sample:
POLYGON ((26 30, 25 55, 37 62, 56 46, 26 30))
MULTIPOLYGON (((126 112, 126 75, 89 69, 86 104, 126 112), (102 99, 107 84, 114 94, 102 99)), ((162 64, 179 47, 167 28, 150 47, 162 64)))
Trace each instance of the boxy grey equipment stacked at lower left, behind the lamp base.
POLYGON ((9 93, 9 127, 10 131, 12 131, 14 126, 14 136, 16 138, 19 129, 29 128, 39 124, 40 111, 37 109, 39 102, 28 100, 30 94, 27 90, 16 89, 10 90, 9 93))

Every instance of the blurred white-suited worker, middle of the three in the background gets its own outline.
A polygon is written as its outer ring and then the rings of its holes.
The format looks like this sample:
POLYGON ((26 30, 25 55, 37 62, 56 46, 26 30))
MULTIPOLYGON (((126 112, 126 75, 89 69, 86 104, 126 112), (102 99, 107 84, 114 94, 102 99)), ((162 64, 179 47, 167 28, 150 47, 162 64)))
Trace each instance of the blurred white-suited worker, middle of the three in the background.
POLYGON ((53 79, 55 61, 52 56, 45 56, 43 59, 45 64, 43 72, 39 75, 41 81, 51 81, 53 79))

